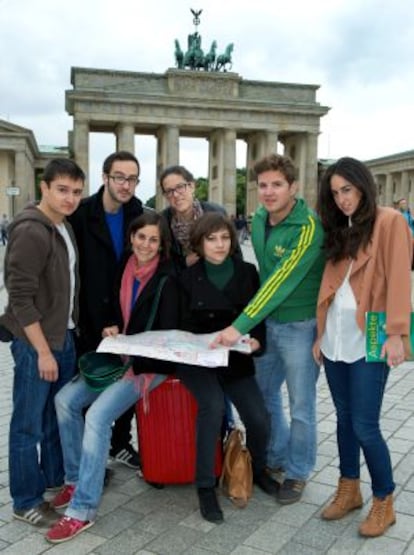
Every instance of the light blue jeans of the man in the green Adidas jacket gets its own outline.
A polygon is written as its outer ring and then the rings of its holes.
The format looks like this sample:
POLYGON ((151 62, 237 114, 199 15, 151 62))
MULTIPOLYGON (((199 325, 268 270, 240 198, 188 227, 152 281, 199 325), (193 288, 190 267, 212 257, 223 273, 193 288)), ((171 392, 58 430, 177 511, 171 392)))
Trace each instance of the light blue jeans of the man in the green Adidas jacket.
POLYGON ((279 323, 266 320, 266 351, 255 359, 256 379, 270 414, 267 464, 283 467, 286 478, 306 480, 316 461, 316 383, 319 367, 312 357, 315 319, 279 323), (290 423, 283 411, 286 382, 290 423))

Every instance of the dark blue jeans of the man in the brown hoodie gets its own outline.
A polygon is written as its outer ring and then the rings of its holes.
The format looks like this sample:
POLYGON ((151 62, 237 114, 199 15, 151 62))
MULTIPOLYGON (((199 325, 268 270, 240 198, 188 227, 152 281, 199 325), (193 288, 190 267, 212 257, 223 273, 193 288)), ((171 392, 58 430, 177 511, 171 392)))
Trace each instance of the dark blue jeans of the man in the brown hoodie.
POLYGON ((37 353, 29 343, 15 338, 11 352, 14 382, 9 437, 10 495, 14 509, 23 510, 39 505, 47 486, 63 483, 54 397, 76 370, 73 333, 66 333, 61 351, 53 351, 59 366, 56 382, 39 377, 37 353))

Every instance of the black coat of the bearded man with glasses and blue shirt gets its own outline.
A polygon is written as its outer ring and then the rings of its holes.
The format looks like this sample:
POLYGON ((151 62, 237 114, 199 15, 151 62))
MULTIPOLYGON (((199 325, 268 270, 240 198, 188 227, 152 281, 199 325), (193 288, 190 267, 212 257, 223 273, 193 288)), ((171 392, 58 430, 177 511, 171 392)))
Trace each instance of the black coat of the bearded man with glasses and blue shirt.
MULTIPOLYGON (((78 351, 94 351, 102 339, 102 329, 113 319, 112 291, 118 261, 103 208, 104 187, 82 200, 69 219, 79 250, 80 309, 78 351)), ((130 222, 143 213, 140 200, 124 204, 124 237, 130 222)))

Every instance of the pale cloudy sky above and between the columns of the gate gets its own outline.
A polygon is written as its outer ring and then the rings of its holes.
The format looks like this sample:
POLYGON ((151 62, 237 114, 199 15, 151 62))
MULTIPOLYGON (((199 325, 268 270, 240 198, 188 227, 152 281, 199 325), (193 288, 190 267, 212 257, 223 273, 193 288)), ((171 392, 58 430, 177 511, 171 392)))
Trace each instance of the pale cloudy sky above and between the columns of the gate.
MULTIPOLYGON (((174 39, 233 42, 244 79, 320 85, 331 108, 321 158, 370 159, 414 148, 414 4, 408 0, 0 0, 0 119, 33 130, 39 145, 66 145, 65 90, 72 66, 163 73, 174 39)), ((207 174, 206 141, 181 141, 181 163, 207 174)), ((114 137, 91 136, 91 190, 114 137)), ((155 139, 137 137, 138 196, 155 190, 155 139)), ((238 145, 238 166, 244 147, 238 145)))

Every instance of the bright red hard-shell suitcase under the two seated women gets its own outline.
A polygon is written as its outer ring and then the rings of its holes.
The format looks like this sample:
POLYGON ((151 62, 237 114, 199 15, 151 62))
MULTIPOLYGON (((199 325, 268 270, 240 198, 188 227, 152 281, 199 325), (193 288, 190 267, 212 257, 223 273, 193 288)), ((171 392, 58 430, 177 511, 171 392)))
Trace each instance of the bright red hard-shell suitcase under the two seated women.
MULTIPOLYGON (((178 378, 169 376, 149 393, 147 411, 136 406, 142 473, 147 482, 188 484, 195 475, 197 402, 178 378)), ((216 476, 222 466, 217 442, 216 476)))

